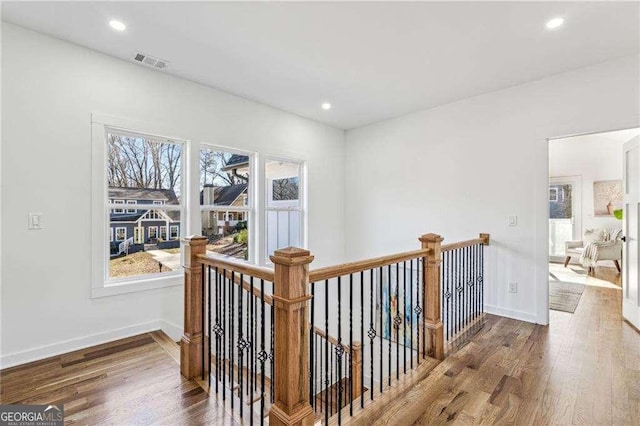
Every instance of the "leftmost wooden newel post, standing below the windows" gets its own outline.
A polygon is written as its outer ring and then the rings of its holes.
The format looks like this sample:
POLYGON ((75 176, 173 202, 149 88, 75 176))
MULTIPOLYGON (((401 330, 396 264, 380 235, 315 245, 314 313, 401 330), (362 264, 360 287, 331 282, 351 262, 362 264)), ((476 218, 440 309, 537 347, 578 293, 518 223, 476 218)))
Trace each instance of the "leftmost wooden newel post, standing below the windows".
POLYGON ((184 334, 180 339, 180 372, 188 379, 202 376, 202 264, 196 256, 205 254, 207 238, 187 237, 184 245, 184 334))

